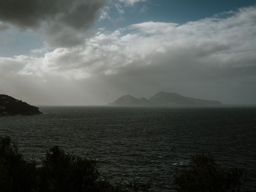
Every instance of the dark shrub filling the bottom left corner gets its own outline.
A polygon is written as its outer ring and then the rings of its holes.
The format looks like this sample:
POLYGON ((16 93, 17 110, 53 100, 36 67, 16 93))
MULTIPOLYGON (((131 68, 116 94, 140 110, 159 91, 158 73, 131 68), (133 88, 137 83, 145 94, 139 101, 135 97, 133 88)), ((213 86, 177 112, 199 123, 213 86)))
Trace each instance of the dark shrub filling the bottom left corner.
POLYGON ((35 184, 35 162, 24 160, 10 137, 0 137, 0 191, 30 192, 35 184))

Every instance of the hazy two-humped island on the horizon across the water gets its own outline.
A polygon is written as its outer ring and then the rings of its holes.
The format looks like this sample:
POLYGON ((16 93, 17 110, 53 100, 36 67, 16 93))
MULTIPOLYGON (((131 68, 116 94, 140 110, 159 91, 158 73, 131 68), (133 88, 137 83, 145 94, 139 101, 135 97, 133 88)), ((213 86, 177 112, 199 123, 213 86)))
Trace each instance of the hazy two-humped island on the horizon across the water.
POLYGON ((161 91, 149 100, 146 98, 135 98, 131 95, 125 95, 116 101, 109 103, 110 105, 221 105, 219 101, 202 100, 181 96, 177 93, 168 93, 161 91))

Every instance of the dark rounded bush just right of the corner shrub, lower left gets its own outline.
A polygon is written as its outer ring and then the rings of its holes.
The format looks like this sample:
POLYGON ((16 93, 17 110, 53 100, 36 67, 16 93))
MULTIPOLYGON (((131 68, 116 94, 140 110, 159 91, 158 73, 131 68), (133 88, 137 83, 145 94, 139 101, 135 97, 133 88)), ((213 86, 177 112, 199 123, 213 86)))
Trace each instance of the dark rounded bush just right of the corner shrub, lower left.
POLYGON ((65 154, 58 146, 50 148, 39 168, 42 192, 96 191, 99 177, 95 160, 65 154))

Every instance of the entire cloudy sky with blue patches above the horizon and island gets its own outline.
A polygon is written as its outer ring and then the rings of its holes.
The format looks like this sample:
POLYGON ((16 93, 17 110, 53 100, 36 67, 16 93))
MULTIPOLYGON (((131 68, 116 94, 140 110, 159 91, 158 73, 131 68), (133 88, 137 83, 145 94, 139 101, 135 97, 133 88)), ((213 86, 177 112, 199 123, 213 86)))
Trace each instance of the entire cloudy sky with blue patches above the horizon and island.
POLYGON ((160 91, 256 104, 255 0, 0 0, 0 94, 105 105, 160 91))

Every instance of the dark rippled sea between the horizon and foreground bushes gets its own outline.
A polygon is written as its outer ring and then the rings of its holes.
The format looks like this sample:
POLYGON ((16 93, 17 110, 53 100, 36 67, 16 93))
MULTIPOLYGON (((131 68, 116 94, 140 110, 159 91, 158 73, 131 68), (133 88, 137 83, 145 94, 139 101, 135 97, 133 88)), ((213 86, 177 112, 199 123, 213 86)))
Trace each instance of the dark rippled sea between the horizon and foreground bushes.
POLYGON ((196 154, 242 168, 242 191, 256 191, 256 107, 40 106, 44 114, 0 117, 38 165, 54 145, 97 161, 110 182, 152 179, 151 191, 174 192, 173 176, 196 154))

